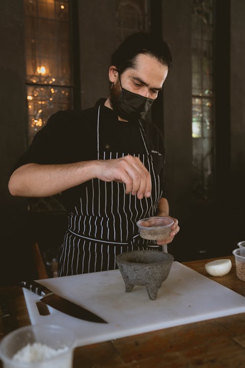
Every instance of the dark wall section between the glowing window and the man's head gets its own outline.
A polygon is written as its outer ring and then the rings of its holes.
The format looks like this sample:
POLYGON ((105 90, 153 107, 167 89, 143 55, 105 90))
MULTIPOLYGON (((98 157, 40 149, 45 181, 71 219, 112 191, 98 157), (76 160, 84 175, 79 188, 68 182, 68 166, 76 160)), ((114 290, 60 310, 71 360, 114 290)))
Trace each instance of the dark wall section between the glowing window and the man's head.
POLYGON ((110 56, 118 46, 117 1, 78 1, 81 106, 108 95, 110 56))

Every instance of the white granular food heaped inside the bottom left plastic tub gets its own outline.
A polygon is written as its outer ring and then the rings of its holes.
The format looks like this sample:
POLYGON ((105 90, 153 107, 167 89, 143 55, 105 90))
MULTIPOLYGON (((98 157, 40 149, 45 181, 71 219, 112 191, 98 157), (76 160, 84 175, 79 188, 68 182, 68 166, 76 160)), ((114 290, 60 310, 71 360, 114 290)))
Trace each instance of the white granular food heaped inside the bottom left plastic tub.
POLYGON ((65 353, 66 351, 68 351, 67 346, 64 346, 62 349, 53 349, 50 346, 41 344, 40 342, 34 342, 33 344, 27 344, 22 349, 18 350, 13 356, 13 360, 25 363, 40 362, 58 354, 65 353))

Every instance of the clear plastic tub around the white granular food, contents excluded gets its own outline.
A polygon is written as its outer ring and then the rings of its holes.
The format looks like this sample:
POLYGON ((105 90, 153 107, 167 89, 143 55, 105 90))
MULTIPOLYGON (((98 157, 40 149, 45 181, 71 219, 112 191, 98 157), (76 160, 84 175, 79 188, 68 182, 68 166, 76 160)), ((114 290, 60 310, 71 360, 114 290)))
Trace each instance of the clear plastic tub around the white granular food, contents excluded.
POLYGON ((0 342, 3 368, 72 368, 75 335, 63 326, 35 324, 18 328, 0 342), (13 356, 27 344, 40 343, 57 350, 54 356, 39 361, 20 362, 13 356), (59 350, 59 351, 58 351, 59 350))

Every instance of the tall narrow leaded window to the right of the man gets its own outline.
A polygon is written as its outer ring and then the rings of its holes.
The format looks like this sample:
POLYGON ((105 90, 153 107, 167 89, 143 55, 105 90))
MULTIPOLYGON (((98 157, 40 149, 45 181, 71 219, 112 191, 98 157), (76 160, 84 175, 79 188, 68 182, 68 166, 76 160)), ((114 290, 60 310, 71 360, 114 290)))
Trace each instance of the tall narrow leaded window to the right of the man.
POLYGON ((214 190, 214 1, 192 3, 194 195, 202 203, 212 202, 214 190))

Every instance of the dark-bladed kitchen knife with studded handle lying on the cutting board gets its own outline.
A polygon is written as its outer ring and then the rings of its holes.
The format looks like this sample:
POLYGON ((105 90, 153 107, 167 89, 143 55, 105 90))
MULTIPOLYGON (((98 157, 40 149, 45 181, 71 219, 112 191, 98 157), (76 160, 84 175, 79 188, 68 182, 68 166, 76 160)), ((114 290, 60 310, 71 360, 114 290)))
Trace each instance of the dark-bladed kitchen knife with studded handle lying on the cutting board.
POLYGON ((73 317, 84 319, 90 322, 107 323, 98 315, 95 315, 87 309, 73 302, 70 302, 65 298, 62 298, 61 296, 55 294, 51 290, 47 289, 45 286, 35 281, 21 281, 20 286, 43 296, 43 298, 40 299, 41 302, 44 302, 50 307, 57 309, 58 311, 63 312, 67 315, 72 315, 73 317))

